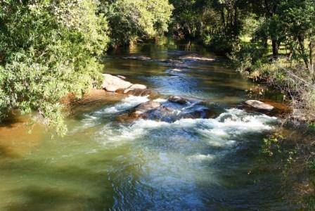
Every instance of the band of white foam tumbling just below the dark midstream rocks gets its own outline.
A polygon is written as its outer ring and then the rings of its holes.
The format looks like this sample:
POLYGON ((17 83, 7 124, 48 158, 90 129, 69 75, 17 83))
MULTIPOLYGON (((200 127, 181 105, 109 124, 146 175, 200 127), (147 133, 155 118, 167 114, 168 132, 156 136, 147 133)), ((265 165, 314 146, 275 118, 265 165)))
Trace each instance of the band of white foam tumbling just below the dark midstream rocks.
MULTIPOLYGON (((273 129, 272 123, 276 122, 276 117, 267 115, 253 115, 245 113, 243 110, 229 109, 214 119, 181 119, 176 122, 161 122, 155 120, 136 120, 130 125, 120 124, 119 129, 115 129, 115 136, 108 134, 109 128, 106 126, 100 132, 106 136, 106 140, 111 141, 131 141, 148 135, 158 129, 161 136, 169 136, 172 132, 191 132, 199 134, 208 140, 211 146, 233 146, 237 141, 234 138, 240 134, 248 132, 265 132, 273 129)), ((113 129, 113 128, 112 128, 113 129)), ((172 134, 171 134, 172 135, 172 134)))

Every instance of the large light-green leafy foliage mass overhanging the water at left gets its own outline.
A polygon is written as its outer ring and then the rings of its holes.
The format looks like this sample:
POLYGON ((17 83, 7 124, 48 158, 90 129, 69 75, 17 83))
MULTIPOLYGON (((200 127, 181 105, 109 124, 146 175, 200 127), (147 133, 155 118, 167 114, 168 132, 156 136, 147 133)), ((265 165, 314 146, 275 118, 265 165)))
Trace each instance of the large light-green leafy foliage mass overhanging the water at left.
POLYGON ((0 119, 38 111, 64 134, 60 98, 100 81, 107 22, 93 0, 23 2, 0 3, 0 119))

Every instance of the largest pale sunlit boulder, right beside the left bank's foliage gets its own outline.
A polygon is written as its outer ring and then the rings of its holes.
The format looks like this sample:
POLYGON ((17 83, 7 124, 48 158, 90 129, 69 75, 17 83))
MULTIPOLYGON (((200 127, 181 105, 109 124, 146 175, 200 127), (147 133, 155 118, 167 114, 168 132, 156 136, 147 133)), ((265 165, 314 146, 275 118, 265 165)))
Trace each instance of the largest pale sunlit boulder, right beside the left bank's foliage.
POLYGON ((106 91, 115 92, 118 89, 128 89, 132 86, 130 82, 125 81, 124 79, 110 75, 110 74, 103 74, 103 84, 102 88, 106 91))

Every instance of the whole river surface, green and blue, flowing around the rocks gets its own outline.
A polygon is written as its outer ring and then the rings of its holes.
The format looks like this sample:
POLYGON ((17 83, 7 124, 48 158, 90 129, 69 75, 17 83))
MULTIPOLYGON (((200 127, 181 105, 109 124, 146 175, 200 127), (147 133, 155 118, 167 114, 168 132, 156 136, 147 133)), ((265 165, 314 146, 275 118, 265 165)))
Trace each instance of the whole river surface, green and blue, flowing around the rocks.
POLYGON ((23 117, 0 127, 0 210, 290 210, 280 172, 259 162, 278 119, 235 108, 252 84, 200 49, 142 44, 110 53, 105 72, 148 85, 161 102, 205 101, 213 118, 117 122, 148 101, 127 96, 76 113, 63 138, 40 126, 27 134, 23 117), (161 61, 192 52, 216 60, 161 61), (123 59, 134 54, 154 60, 123 59))

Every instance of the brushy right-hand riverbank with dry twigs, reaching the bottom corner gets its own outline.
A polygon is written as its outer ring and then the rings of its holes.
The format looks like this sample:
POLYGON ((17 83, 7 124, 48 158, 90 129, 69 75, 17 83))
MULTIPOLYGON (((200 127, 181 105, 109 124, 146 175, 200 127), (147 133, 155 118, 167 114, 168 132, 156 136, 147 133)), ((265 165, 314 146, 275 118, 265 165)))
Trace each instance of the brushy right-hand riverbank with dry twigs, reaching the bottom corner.
MULTIPOLYGON (((300 178, 288 179, 285 182, 293 185, 297 192, 295 200, 299 200, 305 210, 314 210, 314 67, 305 68, 303 64, 290 60, 287 56, 255 61, 255 58, 250 58, 251 54, 247 58, 245 55, 236 53, 230 57, 234 67, 252 81, 281 92, 283 101, 288 101, 291 108, 290 113, 284 116, 286 125, 284 131, 288 128, 296 129, 295 132, 278 131, 271 134, 264 139, 262 152, 266 155, 266 160, 278 162, 277 167, 283 174, 292 174, 300 178)), ((259 90, 259 94, 262 93, 259 90)))

